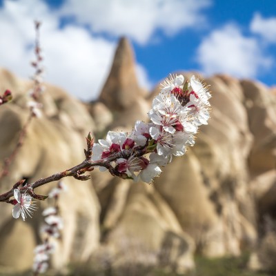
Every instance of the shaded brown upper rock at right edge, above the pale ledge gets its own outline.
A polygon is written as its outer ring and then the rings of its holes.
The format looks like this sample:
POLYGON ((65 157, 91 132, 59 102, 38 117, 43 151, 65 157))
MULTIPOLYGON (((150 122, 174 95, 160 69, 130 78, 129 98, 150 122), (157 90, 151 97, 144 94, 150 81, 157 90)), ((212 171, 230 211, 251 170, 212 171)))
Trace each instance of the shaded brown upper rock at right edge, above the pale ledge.
POLYGON ((276 160, 276 99, 262 83, 242 81, 246 109, 254 144, 249 157, 253 176, 275 169, 276 160))

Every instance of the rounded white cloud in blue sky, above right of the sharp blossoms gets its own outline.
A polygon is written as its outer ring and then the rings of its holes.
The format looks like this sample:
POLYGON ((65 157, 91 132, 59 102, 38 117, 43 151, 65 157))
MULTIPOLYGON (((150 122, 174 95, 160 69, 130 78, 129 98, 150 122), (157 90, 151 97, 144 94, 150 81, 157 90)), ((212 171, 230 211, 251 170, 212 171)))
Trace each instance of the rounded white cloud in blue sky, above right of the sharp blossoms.
POLYGON ((235 77, 255 77, 259 70, 270 68, 272 63, 256 39, 244 37, 231 24, 214 30, 201 42, 197 61, 207 75, 223 72, 235 77))

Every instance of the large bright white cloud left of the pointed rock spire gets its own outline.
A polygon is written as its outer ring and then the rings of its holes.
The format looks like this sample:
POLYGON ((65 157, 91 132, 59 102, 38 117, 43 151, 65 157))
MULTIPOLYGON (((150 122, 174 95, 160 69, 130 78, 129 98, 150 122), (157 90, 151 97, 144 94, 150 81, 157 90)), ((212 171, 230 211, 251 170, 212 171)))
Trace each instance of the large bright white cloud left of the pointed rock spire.
POLYGON ((105 81, 115 43, 91 37, 81 27, 59 30, 59 19, 43 1, 4 1, 0 9, 0 66, 19 77, 32 75, 33 19, 43 21, 41 46, 46 56, 45 81, 81 99, 97 97, 105 81), (35 8, 34 8, 35 7, 35 8), (4 37, 4 34, 7 34, 4 37))

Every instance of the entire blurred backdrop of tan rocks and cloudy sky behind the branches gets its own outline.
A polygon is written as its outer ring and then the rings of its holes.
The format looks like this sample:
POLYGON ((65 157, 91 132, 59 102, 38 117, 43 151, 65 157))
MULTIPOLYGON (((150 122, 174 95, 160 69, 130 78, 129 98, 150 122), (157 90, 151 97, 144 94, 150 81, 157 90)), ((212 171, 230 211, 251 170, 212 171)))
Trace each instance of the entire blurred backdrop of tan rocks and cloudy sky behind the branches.
MULTIPOLYGON (((0 94, 14 94, 0 107, 1 160, 28 117, 34 19, 46 67, 43 117, 2 193, 81 162, 89 131, 99 139, 148 121, 170 73, 213 92, 210 124, 153 184, 97 170, 65 179, 49 275, 275 275, 275 10, 274 0, 0 0, 0 94)), ((48 205, 23 222, 1 204, 0 275, 30 275, 48 205)))

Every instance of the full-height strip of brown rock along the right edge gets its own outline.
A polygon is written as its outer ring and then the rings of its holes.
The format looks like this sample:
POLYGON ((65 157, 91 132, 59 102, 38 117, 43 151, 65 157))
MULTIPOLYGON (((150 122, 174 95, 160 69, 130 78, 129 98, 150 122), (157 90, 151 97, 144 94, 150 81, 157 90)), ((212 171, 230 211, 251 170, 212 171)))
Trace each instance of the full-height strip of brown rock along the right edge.
POLYGON ((252 269, 275 270, 276 244, 276 97, 275 88, 241 81, 253 146, 248 157, 250 188, 257 206, 259 242, 251 255, 252 269))

